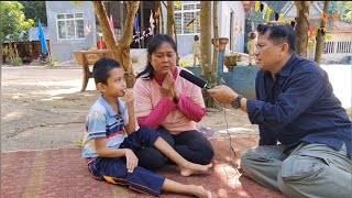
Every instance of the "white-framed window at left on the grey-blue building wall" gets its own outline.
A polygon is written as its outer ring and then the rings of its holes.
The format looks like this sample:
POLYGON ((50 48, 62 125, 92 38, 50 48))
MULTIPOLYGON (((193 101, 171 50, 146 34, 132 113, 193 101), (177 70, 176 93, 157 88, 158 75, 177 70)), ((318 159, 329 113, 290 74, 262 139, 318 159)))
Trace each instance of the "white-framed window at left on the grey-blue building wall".
POLYGON ((61 13, 56 15, 57 38, 85 38, 84 13, 61 13))

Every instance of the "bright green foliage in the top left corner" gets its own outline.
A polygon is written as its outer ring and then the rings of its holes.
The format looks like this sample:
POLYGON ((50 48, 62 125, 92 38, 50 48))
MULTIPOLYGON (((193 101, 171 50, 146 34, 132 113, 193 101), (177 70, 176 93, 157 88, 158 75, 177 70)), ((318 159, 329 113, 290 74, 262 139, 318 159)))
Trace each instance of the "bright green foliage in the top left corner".
POLYGON ((32 19, 26 20, 24 7, 19 1, 1 1, 1 41, 19 42, 29 40, 29 30, 33 26, 32 19))

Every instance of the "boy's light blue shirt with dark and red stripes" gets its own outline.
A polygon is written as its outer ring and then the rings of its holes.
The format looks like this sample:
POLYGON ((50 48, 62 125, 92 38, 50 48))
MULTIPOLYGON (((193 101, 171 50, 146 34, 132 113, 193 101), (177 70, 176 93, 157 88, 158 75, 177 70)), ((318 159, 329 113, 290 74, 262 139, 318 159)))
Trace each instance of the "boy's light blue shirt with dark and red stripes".
POLYGON ((120 113, 117 113, 100 95, 90 107, 86 118, 82 157, 97 157, 95 139, 106 139, 107 146, 119 148, 125 138, 124 125, 129 123, 129 112, 121 99, 117 100, 120 113))

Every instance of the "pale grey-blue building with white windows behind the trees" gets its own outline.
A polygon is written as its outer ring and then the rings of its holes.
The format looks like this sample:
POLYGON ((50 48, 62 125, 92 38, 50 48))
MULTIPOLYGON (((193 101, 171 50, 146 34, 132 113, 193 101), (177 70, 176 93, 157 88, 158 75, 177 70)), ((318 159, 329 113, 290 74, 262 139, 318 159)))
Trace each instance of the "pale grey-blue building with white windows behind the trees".
MULTIPOLYGON (((100 28, 91 1, 82 1, 75 6, 74 1, 46 1, 47 29, 52 55, 61 63, 75 59, 73 52, 86 51, 97 46, 101 40, 100 28)), ((125 21, 124 4, 120 1, 103 1, 108 15, 113 16, 117 37, 121 37, 125 21)), ((193 53, 194 35, 200 34, 199 20, 200 1, 180 1, 175 6, 175 23, 177 30, 178 54, 185 56, 193 53), (193 31, 187 25, 195 19, 193 31)), ((166 33, 167 11, 163 3, 164 31, 166 33)), ((175 3, 176 4, 176 3, 175 3)), ((156 1, 141 1, 139 9, 140 31, 147 30, 150 13, 156 11, 156 1)), ((219 1, 218 10, 219 36, 228 37, 227 51, 243 52, 244 48, 244 9, 241 1, 219 1)), ((212 21, 211 21, 212 23, 212 21)), ((132 43, 132 48, 146 48, 151 36, 139 44, 132 43)), ((200 37, 201 40, 201 37, 200 37)), ((102 38, 103 41, 103 38, 102 38)), ((133 54, 133 50, 132 50, 133 54)))

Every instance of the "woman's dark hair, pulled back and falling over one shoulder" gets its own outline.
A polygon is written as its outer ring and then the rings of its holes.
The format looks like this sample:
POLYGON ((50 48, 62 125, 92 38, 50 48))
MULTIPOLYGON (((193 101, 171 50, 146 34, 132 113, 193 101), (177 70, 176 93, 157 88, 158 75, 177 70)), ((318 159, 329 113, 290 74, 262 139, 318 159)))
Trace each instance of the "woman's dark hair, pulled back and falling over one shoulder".
POLYGON ((152 79, 154 77, 154 68, 153 65, 150 62, 150 58, 152 57, 152 54, 163 44, 163 43, 168 43, 172 45, 174 51, 177 53, 177 46, 174 41, 174 38, 167 34, 157 34, 155 35, 148 43, 147 45, 147 56, 148 61, 147 64, 141 73, 136 75, 135 78, 139 78, 142 76, 143 79, 152 79))

